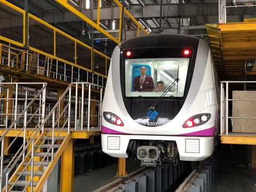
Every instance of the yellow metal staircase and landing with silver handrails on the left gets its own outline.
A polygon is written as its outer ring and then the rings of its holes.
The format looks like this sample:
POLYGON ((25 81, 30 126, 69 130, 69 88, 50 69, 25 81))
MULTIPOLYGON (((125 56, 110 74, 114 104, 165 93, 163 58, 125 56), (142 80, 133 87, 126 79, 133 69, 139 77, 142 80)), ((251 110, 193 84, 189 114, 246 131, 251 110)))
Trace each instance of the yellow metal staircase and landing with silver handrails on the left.
MULTIPOLYGON (((2 83, 0 87, 7 87, 7 85, 15 84, 15 114, 8 113, 6 109, 7 119, 5 132, 0 138, 1 142, 1 171, 0 171, 0 188, 2 191, 41 191, 44 182, 49 177, 55 164, 57 164, 63 150, 65 150, 71 139, 71 132, 82 132, 84 124, 86 124, 86 131, 100 131, 101 125, 101 103, 103 87, 91 83, 71 83, 63 92, 59 100, 55 103, 51 111, 45 116, 45 98, 46 98, 46 83, 38 83, 42 89, 33 98, 18 97, 18 86, 28 83, 2 83), (93 91, 99 94, 98 98, 91 99, 93 91), (85 98, 85 93, 88 97, 85 98), (68 95, 68 102, 61 107, 61 103, 68 95), (75 99, 75 103, 71 102, 75 99), (17 102, 22 100, 25 102, 25 108, 17 112, 17 102), (78 101, 81 100, 78 105, 78 101), (29 102, 28 102, 29 101, 29 102), (98 106, 98 115, 91 114, 91 102, 98 106), (39 103, 39 107, 32 113, 31 106, 39 103), (71 106, 72 105, 72 106, 71 106), (75 106, 74 106, 75 105, 75 106), (75 122, 74 126, 71 124, 71 107, 75 108, 75 122), (62 110, 60 110, 62 108, 62 110), (86 114, 84 115, 84 110, 86 114), (65 113, 68 113, 65 116, 65 113), (86 117, 86 118, 84 118, 86 117), (91 123, 94 118, 95 123, 91 123), (95 119, 97 118, 97 119, 95 119), (98 120, 98 121, 96 121, 98 120), (10 122, 11 121, 11 122, 10 122), (51 126, 46 126, 46 122, 51 122, 51 126), (22 126, 21 126, 21 123, 22 126), (10 126, 8 125, 10 124, 10 126), (92 126, 93 124, 93 126, 92 126), (5 137, 15 134, 16 137, 12 140, 10 145, 4 146, 5 137), (19 137, 23 138, 23 143, 17 150, 17 153, 10 159, 7 165, 4 163, 4 154, 15 145, 15 141, 19 137)), ((31 83, 30 83, 31 84, 31 83)), ((34 83, 33 83, 34 84, 34 83)), ((2 92, 9 93, 10 90, 3 90, 2 92)), ((0 94, 1 95, 1 94, 0 94)), ((4 102, 10 102, 10 98, 4 96, 4 102)), ((2 117, 4 118, 4 117, 2 117)), ((0 129, 1 130, 1 129, 0 129)), ((16 147, 16 146, 15 146, 16 147)))

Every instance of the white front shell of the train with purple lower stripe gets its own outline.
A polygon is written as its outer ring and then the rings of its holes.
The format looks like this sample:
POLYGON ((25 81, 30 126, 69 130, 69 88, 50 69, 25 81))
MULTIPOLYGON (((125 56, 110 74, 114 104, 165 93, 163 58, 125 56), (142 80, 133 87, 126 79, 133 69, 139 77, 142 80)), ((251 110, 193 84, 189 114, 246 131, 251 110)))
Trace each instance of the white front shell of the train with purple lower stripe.
MULTIPOLYGON (((148 37, 150 38, 150 37, 148 37)), ((193 39, 194 41, 194 39, 193 39)), ((123 126, 117 124, 109 123, 106 119, 106 116, 102 118, 102 150, 103 152, 114 156, 114 157, 127 157, 127 149, 129 149, 129 142, 132 140, 163 140, 163 141, 175 141, 177 145, 179 156, 181 160, 184 161, 199 161, 203 160, 206 157, 209 157, 212 154, 214 146, 214 137, 217 135, 217 118, 219 111, 219 101, 218 101, 218 80, 215 78, 215 71, 213 67, 213 60, 209 46, 202 39, 198 39, 198 47, 194 58, 194 69, 191 68, 191 62, 193 58, 190 58, 190 68, 188 67, 188 74, 193 75, 191 77, 191 82, 186 84, 184 91, 184 101, 181 102, 180 110, 177 114, 173 115, 172 119, 168 119, 164 124, 157 126, 145 126, 142 121, 150 121, 147 117, 142 117, 139 121, 138 119, 132 117, 131 109, 127 108, 127 100, 124 95, 126 90, 122 89, 122 78, 125 76, 125 82, 127 84, 127 73, 123 73, 122 69, 122 57, 124 54, 124 49, 122 50, 122 44, 119 44, 111 57, 110 70, 108 74, 108 80, 106 85, 105 97, 102 103, 103 113, 113 113, 116 118, 122 120, 123 126), (118 65, 120 63, 120 65, 118 65), (190 70, 190 71, 189 71, 190 70), (121 81, 120 81, 121 79, 121 81), (126 99, 126 103, 125 103, 126 99), (185 128, 185 122, 198 114, 210 114, 209 119, 206 123, 203 123, 199 126, 192 126, 185 128), (138 123, 140 122, 140 123, 138 123), (142 123, 141 123, 142 122, 142 123), (113 138, 119 138, 119 149, 110 149, 108 146, 115 145, 115 141, 111 140, 113 138), (110 138, 110 140, 108 140, 110 138), (195 142, 193 142, 195 141, 195 142), (114 144, 111 144, 114 143, 114 144), (187 143, 187 144, 186 144, 187 143), (197 149, 193 148, 196 146, 197 149), (186 148, 187 146, 187 148, 186 148), (189 151, 188 149, 191 149, 189 151), (193 151, 196 151, 195 153, 193 151)), ((125 60, 126 62, 126 60, 125 60)), ((139 60, 139 62, 141 62, 139 60)), ((150 62, 149 62, 150 63, 150 62)), ((127 63, 125 63, 126 65, 127 63)), ((156 68, 153 65, 148 65, 152 70, 152 77, 156 72, 156 68)), ((182 65, 179 65, 179 67, 182 65)), ((183 64, 184 66, 184 64, 183 64)), ((178 68, 181 71, 182 68, 178 68)), ((126 70, 126 69, 125 69, 126 70)), ((158 73, 158 72, 157 72, 158 73)), ((130 74, 132 75, 132 74, 130 74)), ((182 77, 182 74, 180 75, 182 77)), ((187 77, 188 78, 188 77, 187 77)), ((124 78, 123 78, 124 79, 124 78)), ((132 81, 132 80, 131 80, 132 81)), ((188 81, 188 80, 186 80, 188 81)), ((182 83, 182 81, 180 81, 182 83)), ((127 86, 125 84, 125 86, 127 86)), ((128 83, 129 85, 131 82, 128 83)), ((178 83, 177 83, 178 84, 178 83)), ((179 84, 181 85, 181 84, 179 84)), ((181 85, 182 86, 182 85, 181 85)), ((178 87, 178 85, 177 85, 178 87)), ((129 88, 130 89, 130 88, 129 88)), ((182 88, 180 88, 182 89, 182 88)), ((135 94, 135 93, 131 93, 135 94)), ((140 94, 140 93, 139 93, 140 94)), ((157 94, 157 93, 146 93, 146 94, 157 94)), ((177 97, 178 97, 178 88, 177 88, 177 97)), ((165 99, 165 98, 164 98, 165 99)), ((131 99, 132 100, 132 99, 131 99)), ((135 98, 134 100, 137 100, 135 98)), ((143 98, 142 98, 143 100, 143 98)), ((156 100, 156 98, 152 99, 156 100)), ((167 98, 168 100, 168 98, 167 98)), ((138 102, 138 101, 137 101, 138 102)), ((147 100, 149 103, 150 100, 147 100)), ((167 103, 168 101, 164 101, 167 103)), ((170 101, 175 102, 175 101, 170 101)), ((146 105, 148 107, 149 104, 146 105)), ((144 106, 136 106, 138 113, 140 113, 144 106)), ((159 108, 159 107, 158 107, 159 108)), ((158 110, 161 114, 161 109, 158 110)), ((157 112, 158 112, 157 111, 157 112)), ((104 114, 102 114, 103 116, 104 114)), ((160 115, 159 115, 160 116, 160 115)), ((198 116, 199 118, 202 117, 198 116)), ((111 117, 112 118, 112 117, 111 117)), ((203 118, 203 117, 202 117, 203 118)), ((208 116, 207 116, 208 118, 208 116)), ((194 119, 195 120, 195 119, 194 119)), ((161 121, 161 117, 158 118, 155 123, 157 124, 161 121), (160 120, 159 120, 160 119, 160 120)), ((163 120, 162 120, 163 121, 163 120)), ((154 124, 154 123, 153 123, 154 124)), ((138 146, 137 146, 138 147, 138 146)))

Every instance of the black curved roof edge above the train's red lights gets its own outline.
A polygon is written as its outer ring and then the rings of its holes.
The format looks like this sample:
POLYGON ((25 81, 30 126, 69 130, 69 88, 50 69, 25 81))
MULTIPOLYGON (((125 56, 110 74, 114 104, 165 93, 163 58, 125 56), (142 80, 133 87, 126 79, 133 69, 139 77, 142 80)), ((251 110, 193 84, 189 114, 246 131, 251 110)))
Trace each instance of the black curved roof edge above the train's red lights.
POLYGON ((198 37, 177 34, 144 35, 127 39, 121 43, 121 49, 143 48, 143 47, 174 47, 190 46, 197 47, 198 37))

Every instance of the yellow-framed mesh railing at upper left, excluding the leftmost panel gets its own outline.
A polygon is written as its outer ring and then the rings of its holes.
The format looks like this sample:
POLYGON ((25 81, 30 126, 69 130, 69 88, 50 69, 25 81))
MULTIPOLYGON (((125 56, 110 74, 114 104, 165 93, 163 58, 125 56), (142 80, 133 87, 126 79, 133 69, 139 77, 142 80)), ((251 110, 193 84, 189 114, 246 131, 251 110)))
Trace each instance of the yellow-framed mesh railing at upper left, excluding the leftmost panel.
POLYGON ((32 14, 29 14, 28 17, 30 50, 90 72, 93 67, 92 54, 94 53, 94 66, 98 65, 101 66, 99 67, 100 69, 104 69, 101 73, 97 69, 94 69, 94 73, 107 77, 107 63, 110 60, 107 55, 95 49, 92 52, 91 46, 86 45, 32 14), (31 30, 31 28, 34 28, 34 30, 31 30), (41 33, 41 38, 39 39, 38 34, 34 33, 34 31, 39 31, 40 29, 47 30, 47 33, 41 33), (87 63, 83 63, 82 61, 87 61, 87 63))

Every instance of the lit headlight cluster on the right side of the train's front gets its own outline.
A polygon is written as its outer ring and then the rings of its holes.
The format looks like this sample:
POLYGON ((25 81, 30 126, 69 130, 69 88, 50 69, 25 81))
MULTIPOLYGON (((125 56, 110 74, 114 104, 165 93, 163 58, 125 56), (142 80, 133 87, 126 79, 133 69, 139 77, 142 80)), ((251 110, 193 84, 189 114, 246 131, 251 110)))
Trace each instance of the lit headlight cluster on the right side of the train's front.
POLYGON ((183 128, 195 127, 205 124, 211 118, 211 114, 198 114, 190 117, 183 125, 183 128))

